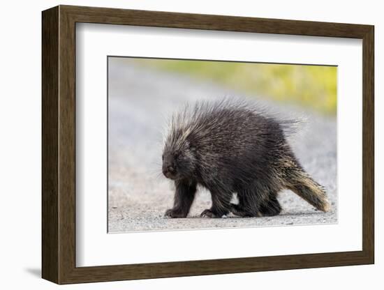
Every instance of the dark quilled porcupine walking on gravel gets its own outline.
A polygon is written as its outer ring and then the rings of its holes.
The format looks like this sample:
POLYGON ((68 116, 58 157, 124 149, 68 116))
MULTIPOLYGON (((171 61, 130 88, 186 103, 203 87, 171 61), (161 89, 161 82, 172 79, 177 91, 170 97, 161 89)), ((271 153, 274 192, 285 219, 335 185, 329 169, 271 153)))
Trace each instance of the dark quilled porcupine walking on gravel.
POLYGON ((286 139, 292 122, 259 112, 245 101, 200 101, 172 116, 164 139, 162 171, 175 182, 166 217, 186 217, 198 185, 212 207, 201 217, 278 215, 277 194, 289 189, 320 211, 325 189, 300 165, 286 139), (237 193, 238 204, 231 203, 237 193))

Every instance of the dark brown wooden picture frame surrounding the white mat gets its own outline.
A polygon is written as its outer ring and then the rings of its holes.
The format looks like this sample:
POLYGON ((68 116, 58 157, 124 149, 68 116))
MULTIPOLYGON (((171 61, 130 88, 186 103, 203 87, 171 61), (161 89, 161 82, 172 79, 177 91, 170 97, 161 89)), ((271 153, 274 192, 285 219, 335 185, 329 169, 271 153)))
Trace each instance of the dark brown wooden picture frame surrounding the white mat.
POLYGON ((58 284, 374 264, 374 26, 57 6, 43 11, 42 276, 58 284), (362 251, 154 264, 75 265, 75 24, 360 38, 363 46, 362 251))

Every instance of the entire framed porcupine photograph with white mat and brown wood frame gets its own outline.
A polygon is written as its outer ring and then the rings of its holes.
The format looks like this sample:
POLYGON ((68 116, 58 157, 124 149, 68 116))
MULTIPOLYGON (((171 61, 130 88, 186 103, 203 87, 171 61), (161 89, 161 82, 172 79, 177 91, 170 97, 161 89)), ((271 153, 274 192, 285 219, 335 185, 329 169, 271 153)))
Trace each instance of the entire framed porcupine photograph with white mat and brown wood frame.
POLYGON ((43 11, 42 275, 374 263, 374 26, 43 11))

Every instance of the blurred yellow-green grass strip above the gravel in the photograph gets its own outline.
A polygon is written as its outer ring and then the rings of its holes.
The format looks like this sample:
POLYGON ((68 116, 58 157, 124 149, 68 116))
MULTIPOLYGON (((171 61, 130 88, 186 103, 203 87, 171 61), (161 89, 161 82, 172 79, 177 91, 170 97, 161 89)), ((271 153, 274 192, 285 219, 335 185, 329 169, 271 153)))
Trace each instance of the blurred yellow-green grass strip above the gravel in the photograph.
POLYGON ((226 61, 137 59, 143 66, 216 82, 229 89, 335 115, 337 67, 226 61))

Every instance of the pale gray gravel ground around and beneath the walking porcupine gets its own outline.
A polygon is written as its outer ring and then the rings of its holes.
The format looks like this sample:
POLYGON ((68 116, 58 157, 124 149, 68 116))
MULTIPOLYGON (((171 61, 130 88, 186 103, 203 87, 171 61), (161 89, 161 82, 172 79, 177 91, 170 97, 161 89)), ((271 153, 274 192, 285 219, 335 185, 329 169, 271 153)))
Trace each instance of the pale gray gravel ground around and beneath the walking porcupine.
POLYGON ((109 232, 337 222, 336 119, 265 100, 259 100, 260 104, 272 112, 307 119, 290 143, 303 167, 327 189, 332 210, 316 211, 286 190, 279 195, 283 211, 275 217, 200 218, 211 204, 209 192, 200 190, 189 217, 164 218, 173 198, 172 183, 161 175, 161 140, 167 117, 186 101, 242 96, 207 81, 135 66, 130 59, 110 59, 109 70, 109 232))

